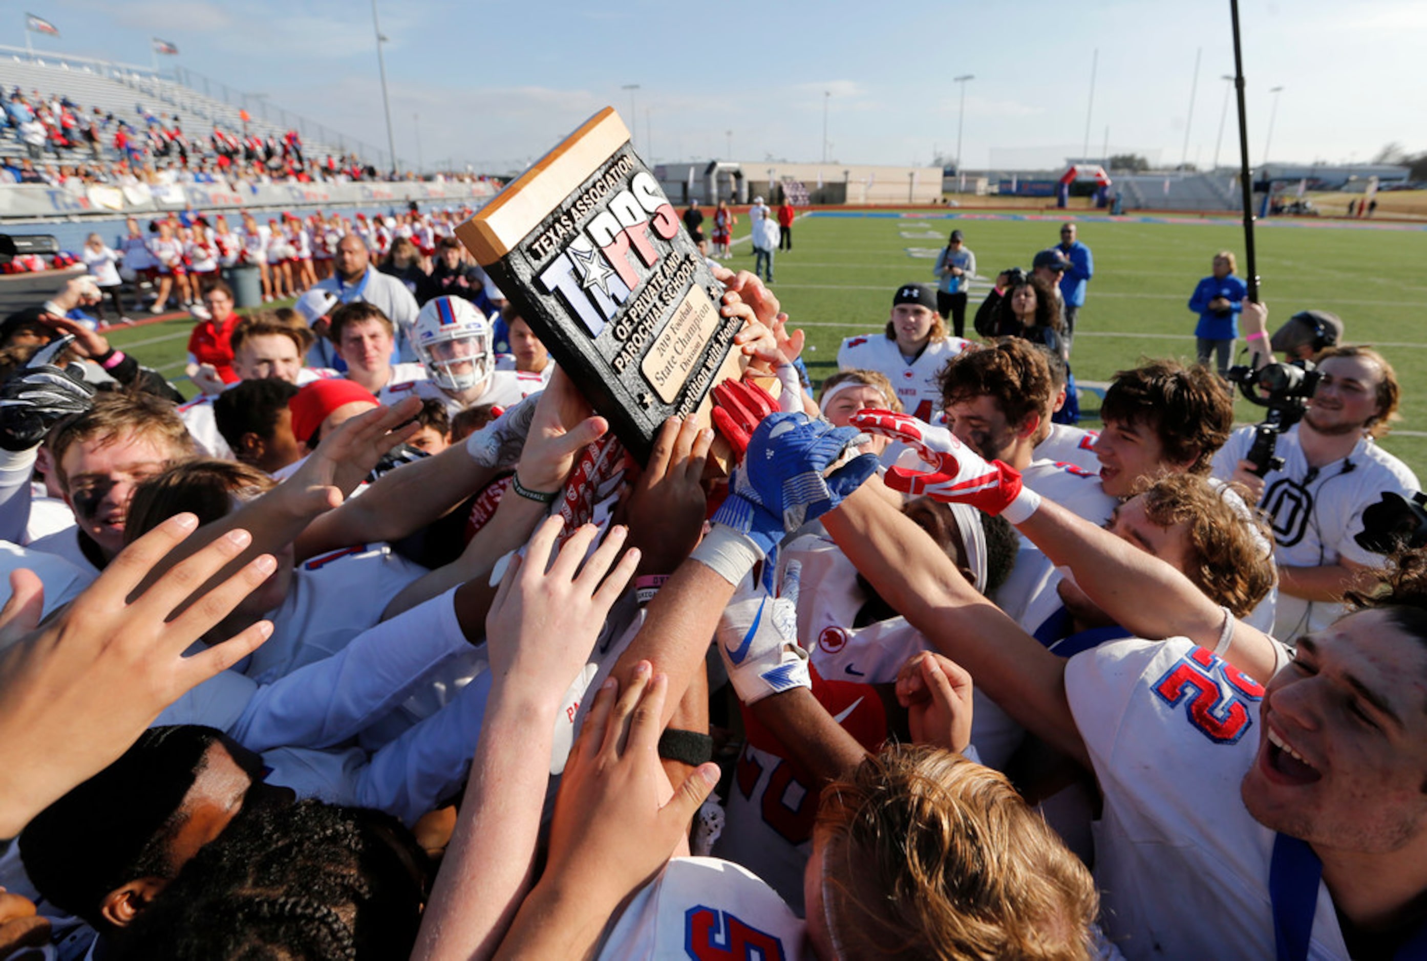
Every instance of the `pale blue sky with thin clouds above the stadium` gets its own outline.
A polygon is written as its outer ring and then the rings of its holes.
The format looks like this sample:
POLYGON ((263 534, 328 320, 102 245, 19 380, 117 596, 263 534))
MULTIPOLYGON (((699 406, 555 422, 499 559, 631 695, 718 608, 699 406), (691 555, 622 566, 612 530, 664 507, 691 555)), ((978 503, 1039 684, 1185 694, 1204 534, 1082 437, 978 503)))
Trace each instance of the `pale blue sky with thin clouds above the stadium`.
MULTIPOLYGON (((649 163, 930 164, 956 155, 959 125, 970 170, 1053 167, 1087 143, 1089 155, 1107 144, 1166 167, 1237 160, 1232 100, 1219 140, 1227 0, 377 9, 404 165, 420 145, 427 168, 521 170, 605 106, 632 114, 649 163), (953 77, 965 74, 962 111, 953 77)), ((370 3, 26 0, 4 4, 0 43, 24 46, 26 11, 61 31, 33 34, 40 51, 148 64, 161 37, 180 50, 166 68, 265 94, 385 151, 370 3)), ((1427 3, 1243 0, 1240 16, 1253 164, 1266 148, 1280 163, 1363 163, 1394 141, 1427 150, 1427 3)))

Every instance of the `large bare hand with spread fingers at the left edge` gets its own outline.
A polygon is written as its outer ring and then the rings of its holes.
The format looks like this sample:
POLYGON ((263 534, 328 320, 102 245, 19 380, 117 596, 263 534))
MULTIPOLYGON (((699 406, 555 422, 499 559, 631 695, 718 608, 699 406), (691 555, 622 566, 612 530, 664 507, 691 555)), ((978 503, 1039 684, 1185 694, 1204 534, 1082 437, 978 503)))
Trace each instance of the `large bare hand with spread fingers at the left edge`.
MULTIPOLYGON (((0 837, 14 837, 29 818, 123 754, 180 694, 247 657, 273 633, 263 620, 184 656, 277 569, 271 555, 173 616, 194 585, 243 553, 251 540, 245 530, 228 532, 136 593, 197 525, 191 513, 164 520, 120 552, 64 612, 0 653, 0 837)), ((16 586, 0 613, 6 633, 33 623, 37 612, 36 583, 20 576, 16 586)))

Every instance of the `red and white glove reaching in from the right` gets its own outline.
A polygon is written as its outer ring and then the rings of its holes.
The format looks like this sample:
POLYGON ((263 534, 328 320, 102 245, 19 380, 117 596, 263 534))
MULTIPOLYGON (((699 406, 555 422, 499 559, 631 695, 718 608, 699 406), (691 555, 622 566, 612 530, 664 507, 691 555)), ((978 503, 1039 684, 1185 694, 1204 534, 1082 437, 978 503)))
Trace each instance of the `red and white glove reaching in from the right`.
POLYGON ((950 431, 892 411, 862 411, 850 423, 859 431, 900 441, 932 465, 926 472, 890 468, 883 482, 893 490, 925 495, 942 503, 969 503, 992 516, 1016 505, 1015 516, 1007 518, 1012 523, 1020 523, 1040 506, 1040 498, 1022 486, 1019 471, 1000 461, 987 463, 950 431))

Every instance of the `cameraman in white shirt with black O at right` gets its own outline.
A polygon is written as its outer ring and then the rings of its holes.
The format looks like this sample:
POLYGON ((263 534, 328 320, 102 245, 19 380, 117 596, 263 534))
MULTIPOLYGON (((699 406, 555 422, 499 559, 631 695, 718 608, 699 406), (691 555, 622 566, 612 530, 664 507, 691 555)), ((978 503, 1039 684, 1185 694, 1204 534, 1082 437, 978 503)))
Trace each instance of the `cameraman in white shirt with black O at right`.
MULTIPOLYGON (((1251 304, 1246 317, 1250 308, 1267 317, 1251 304)), ((1317 359, 1321 381, 1307 412, 1279 438, 1280 469, 1253 473, 1244 456, 1254 428, 1236 431, 1214 456, 1214 476, 1247 486, 1273 523, 1280 577, 1273 633, 1286 642, 1333 623, 1359 573, 1381 566, 1378 555, 1353 540, 1363 530, 1363 510, 1384 490, 1410 496, 1420 486, 1406 463, 1374 443, 1397 416, 1391 365, 1364 346, 1330 346, 1317 359)))

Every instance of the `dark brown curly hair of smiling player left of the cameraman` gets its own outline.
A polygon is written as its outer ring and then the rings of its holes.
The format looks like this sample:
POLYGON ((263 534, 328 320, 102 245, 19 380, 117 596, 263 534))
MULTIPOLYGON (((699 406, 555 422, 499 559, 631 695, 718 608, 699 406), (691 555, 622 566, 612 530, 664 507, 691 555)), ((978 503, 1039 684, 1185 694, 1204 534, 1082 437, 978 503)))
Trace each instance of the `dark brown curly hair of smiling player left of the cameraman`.
POLYGON ((1189 473, 1207 475, 1214 452, 1234 429, 1234 399, 1202 364, 1147 361, 1116 372, 1100 419, 1150 428, 1166 459, 1189 463, 1189 473))

